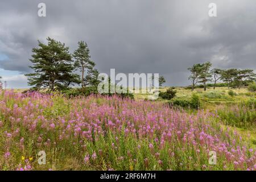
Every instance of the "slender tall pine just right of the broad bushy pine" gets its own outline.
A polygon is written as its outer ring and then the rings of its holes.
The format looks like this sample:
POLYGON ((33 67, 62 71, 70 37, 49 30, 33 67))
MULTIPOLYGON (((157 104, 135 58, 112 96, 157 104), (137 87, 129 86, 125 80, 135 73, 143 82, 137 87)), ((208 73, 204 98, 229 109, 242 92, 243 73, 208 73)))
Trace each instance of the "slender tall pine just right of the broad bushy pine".
POLYGON ((90 60, 90 51, 86 44, 86 42, 81 41, 78 43, 79 47, 73 53, 73 57, 75 59, 75 65, 81 71, 81 86, 84 87, 84 75, 86 71, 92 71, 95 63, 90 60))

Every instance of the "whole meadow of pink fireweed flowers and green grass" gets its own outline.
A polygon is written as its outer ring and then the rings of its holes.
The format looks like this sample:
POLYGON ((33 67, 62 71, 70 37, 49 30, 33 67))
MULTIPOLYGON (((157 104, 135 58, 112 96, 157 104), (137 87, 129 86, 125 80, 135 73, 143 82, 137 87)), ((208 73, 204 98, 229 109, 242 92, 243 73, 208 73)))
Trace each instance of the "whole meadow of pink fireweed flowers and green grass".
MULTIPOLYGON (((176 89, 176 99, 192 96, 176 89)), ((199 110, 143 94, 130 100, 2 90, 0 170, 256 170, 255 93, 233 90, 195 89, 199 110), (39 151, 46 164, 39 165, 39 151), (216 164, 209 164, 210 151, 216 164)))

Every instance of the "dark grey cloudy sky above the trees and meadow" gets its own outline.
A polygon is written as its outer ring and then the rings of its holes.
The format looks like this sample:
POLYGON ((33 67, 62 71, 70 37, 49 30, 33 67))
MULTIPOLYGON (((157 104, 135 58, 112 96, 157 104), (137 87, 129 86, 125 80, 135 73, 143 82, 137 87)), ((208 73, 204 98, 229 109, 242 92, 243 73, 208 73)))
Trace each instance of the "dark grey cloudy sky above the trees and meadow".
POLYGON ((1 0, 0 76, 8 88, 28 88, 31 49, 48 36, 70 52, 84 40, 101 73, 159 73, 166 86, 191 84, 187 68, 205 61, 256 70, 255 10, 255 0, 1 0))

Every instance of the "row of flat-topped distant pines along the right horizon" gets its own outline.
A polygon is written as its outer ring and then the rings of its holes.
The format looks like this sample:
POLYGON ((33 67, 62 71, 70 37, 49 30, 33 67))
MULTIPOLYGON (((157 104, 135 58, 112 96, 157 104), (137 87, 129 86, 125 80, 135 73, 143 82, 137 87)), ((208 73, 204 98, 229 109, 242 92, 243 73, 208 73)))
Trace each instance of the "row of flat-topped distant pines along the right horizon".
POLYGON ((203 88, 206 90, 208 85, 207 82, 213 82, 213 88, 215 89, 218 81, 224 82, 228 88, 230 88, 231 85, 241 88, 248 82, 255 81, 256 78, 253 69, 211 68, 212 63, 209 61, 203 64, 194 64, 191 68, 188 68, 191 72, 188 79, 192 82, 192 90, 196 88, 198 83, 203 84, 203 88))

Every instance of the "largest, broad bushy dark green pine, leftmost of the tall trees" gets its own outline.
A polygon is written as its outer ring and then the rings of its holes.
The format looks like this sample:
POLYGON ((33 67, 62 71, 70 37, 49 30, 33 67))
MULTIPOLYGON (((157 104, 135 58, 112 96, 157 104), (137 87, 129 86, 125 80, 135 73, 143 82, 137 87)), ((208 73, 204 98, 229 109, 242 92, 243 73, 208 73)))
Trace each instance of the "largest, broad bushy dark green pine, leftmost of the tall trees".
POLYGON ((79 75, 73 73, 75 67, 69 48, 54 39, 47 38, 48 44, 38 41, 39 48, 33 48, 32 59, 35 73, 27 74, 28 85, 34 89, 48 88, 48 90, 67 89, 71 85, 79 84, 79 75))

